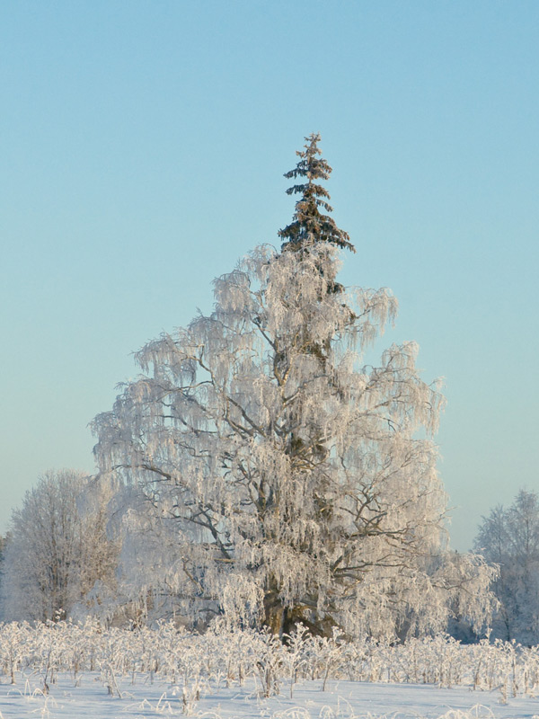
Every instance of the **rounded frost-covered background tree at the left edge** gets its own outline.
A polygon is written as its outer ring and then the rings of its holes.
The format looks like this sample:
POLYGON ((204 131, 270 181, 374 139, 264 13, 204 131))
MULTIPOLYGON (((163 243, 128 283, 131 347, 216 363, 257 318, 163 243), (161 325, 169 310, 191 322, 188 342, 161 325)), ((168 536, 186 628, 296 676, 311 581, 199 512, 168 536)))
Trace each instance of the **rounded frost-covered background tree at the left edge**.
POLYGON ((40 477, 13 510, 4 550, 5 619, 63 618, 96 581, 113 583, 117 549, 106 536, 104 508, 80 472, 40 477))

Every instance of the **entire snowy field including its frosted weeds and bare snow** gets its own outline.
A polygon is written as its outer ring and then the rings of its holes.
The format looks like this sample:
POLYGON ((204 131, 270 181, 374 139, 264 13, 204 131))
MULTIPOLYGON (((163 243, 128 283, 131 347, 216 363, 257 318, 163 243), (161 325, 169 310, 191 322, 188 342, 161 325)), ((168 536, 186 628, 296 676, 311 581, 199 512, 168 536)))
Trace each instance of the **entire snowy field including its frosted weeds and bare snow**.
POLYGON ((539 647, 0 625, 0 719, 539 719, 539 647))

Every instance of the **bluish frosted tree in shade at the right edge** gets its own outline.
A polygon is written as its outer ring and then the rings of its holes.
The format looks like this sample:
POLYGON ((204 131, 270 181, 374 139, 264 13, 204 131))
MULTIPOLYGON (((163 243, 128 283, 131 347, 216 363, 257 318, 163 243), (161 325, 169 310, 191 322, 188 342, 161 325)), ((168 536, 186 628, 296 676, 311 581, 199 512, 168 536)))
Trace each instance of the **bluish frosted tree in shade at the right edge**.
POLYGON ((476 551, 499 567, 492 589, 499 600, 492 633, 521 644, 539 644, 539 496, 520 490, 515 502, 482 518, 476 551))

